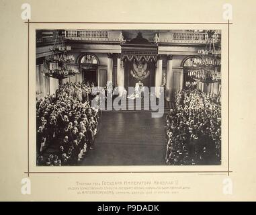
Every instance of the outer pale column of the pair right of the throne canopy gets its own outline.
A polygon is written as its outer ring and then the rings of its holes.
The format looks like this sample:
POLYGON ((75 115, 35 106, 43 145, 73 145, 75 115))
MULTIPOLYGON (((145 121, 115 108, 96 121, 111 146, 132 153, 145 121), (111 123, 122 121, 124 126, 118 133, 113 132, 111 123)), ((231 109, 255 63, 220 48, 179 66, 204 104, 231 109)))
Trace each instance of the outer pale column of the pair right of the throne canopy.
POLYGON ((167 71, 166 71, 166 97, 167 101, 171 101, 173 94, 173 55, 167 55, 167 71))

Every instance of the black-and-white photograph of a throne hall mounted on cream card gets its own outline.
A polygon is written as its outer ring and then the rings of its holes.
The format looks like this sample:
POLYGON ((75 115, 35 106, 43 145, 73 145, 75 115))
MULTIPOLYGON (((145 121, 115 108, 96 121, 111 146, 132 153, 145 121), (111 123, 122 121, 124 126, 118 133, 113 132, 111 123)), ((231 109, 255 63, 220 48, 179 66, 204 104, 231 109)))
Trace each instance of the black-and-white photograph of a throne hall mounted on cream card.
POLYGON ((36 30, 35 72, 38 166, 221 164, 220 30, 36 30))

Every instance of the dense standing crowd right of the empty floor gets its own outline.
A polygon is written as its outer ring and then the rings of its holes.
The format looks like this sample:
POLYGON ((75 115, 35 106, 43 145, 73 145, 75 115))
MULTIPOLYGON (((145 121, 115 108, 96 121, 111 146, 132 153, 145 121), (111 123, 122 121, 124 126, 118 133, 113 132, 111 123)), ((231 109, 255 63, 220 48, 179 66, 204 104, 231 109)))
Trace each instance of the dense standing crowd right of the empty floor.
POLYGON ((175 93, 175 109, 167 114, 166 162, 169 165, 221 163, 220 97, 186 83, 175 93))

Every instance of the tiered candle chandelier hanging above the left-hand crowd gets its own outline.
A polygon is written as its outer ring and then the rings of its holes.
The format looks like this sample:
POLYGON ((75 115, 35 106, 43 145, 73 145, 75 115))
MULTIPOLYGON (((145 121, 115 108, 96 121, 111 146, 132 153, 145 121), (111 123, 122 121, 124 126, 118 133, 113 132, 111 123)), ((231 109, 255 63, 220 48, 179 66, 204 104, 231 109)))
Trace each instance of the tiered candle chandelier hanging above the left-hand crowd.
POLYGON ((46 76, 61 81, 62 79, 79 73, 78 67, 71 66, 71 62, 75 61, 75 57, 68 54, 71 50, 71 46, 64 44, 60 32, 56 32, 54 45, 50 46, 49 49, 52 51, 52 54, 47 56, 44 60, 45 70, 43 73, 46 76))

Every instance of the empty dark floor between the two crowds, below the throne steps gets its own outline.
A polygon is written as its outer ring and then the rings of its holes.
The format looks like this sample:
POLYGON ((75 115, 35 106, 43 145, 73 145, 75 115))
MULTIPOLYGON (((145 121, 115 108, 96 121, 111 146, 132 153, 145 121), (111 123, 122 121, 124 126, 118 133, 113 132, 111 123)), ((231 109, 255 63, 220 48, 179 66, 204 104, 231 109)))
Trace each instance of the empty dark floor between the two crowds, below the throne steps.
POLYGON ((103 112, 95 149, 79 165, 165 165, 165 116, 103 112))

